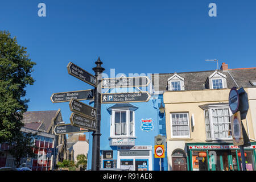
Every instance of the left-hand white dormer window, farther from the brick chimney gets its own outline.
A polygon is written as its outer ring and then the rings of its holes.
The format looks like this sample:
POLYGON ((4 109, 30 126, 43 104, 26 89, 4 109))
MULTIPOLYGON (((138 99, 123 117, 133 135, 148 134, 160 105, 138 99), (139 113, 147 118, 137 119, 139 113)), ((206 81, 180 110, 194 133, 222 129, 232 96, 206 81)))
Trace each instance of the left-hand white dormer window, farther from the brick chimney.
POLYGON ((184 90, 184 78, 176 73, 168 78, 168 90, 177 91, 184 90))

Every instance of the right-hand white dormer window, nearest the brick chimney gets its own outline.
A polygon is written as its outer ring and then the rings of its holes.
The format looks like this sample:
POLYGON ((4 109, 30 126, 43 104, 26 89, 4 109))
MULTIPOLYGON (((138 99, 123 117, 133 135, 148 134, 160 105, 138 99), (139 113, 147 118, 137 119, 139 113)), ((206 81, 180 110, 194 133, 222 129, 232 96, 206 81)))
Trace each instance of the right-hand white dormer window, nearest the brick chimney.
POLYGON ((205 81, 206 89, 223 89, 227 88, 226 84, 226 75, 222 74, 219 71, 215 71, 207 78, 205 81))

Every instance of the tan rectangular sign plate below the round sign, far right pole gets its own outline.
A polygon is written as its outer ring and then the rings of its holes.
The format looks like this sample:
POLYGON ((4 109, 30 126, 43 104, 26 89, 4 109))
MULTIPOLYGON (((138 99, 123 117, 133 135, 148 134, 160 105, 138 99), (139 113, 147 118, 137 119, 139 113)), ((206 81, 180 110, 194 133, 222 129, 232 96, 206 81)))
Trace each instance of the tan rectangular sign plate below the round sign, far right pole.
POLYGON ((240 118, 240 111, 231 116, 231 128, 234 146, 243 145, 243 132, 240 118))

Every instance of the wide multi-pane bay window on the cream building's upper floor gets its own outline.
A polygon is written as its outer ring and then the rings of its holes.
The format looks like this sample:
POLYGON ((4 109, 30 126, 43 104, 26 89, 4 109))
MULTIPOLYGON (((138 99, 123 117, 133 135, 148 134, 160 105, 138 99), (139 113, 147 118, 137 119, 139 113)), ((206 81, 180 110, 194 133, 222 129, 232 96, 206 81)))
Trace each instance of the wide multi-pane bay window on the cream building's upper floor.
POLYGON ((205 109, 204 117, 208 140, 232 139, 229 107, 205 109))

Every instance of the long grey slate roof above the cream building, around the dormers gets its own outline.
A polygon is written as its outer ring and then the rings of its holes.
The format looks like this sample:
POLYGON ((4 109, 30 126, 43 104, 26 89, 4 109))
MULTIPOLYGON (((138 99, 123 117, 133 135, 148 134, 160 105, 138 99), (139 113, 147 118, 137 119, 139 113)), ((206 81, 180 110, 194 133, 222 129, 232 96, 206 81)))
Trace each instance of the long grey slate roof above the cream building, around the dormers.
MULTIPOLYGON (((205 89, 205 81, 215 71, 216 70, 199 72, 180 72, 176 74, 184 78, 185 90, 203 90, 205 89)), ((228 88, 237 86, 236 83, 238 84, 239 87, 252 87, 249 81, 256 80, 256 68, 229 69, 228 71, 219 70, 219 72, 226 76, 228 88), (236 82, 233 81, 232 77, 236 82)), ((173 75, 175 75, 175 73, 152 74, 152 85, 154 85, 154 90, 156 92, 168 90, 167 80, 173 75)))

